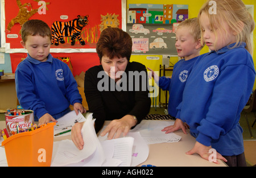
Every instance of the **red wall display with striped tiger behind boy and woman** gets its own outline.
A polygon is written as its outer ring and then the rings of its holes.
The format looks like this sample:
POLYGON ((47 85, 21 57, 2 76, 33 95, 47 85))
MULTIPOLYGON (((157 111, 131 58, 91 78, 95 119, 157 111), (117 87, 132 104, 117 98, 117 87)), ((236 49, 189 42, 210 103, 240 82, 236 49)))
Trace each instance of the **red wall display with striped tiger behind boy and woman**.
POLYGON ((122 27, 122 1, 5 0, 5 30, 2 32, 5 32, 5 48, 6 53, 10 53, 13 72, 27 56, 20 44, 20 29, 30 19, 40 19, 48 24, 53 34, 52 56, 69 57, 75 75, 99 64, 94 53, 98 38, 106 27, 122 27), (58 32, 61 25, 71 29, 77 23, 82 26, 78 31, 80 39, 72 40, 72 30, 58 32))

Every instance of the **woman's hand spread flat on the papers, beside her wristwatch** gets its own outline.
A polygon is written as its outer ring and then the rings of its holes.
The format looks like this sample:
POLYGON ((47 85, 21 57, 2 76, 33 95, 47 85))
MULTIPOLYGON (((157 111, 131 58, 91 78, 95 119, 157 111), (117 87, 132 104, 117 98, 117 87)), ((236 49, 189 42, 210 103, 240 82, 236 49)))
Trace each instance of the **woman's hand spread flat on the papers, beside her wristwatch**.
POLYGON ((132 115, 125 115, 121 119, 115 119, 109 123, 101 136, 105 136, 108 133, 108 139, 119 138, 121 133, 125 136, 129 133, 131 127, 136 125, 136 121, 132 115))

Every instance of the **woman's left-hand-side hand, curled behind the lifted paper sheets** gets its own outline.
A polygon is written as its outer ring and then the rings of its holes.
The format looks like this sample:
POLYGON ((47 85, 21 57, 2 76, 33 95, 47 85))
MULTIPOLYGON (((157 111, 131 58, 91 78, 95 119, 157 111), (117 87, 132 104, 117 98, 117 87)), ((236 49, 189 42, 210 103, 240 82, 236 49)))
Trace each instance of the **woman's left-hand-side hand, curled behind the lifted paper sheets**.
POLYGON ((72 135, 72 141, 75 143, 75 146, 79 148, 79 150, 82 150, 82 147, 84 147, 84 139, 82 139, 82 125, 84 122, 77 122, 75 125, 73 125, 71 130, 72 135))

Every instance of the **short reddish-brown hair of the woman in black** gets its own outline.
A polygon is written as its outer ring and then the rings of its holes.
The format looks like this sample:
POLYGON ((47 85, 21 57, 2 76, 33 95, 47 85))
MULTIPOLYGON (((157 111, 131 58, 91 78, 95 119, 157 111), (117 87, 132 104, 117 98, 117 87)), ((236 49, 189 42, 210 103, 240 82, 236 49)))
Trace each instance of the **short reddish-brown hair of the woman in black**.
POLYGON ((108 56, 109 59, 126 57, 129 61, 132 45, 131 36, 127 32, 120 28, 109 27, 101 32, 96 51, 100 61, 104 55, 108 56))

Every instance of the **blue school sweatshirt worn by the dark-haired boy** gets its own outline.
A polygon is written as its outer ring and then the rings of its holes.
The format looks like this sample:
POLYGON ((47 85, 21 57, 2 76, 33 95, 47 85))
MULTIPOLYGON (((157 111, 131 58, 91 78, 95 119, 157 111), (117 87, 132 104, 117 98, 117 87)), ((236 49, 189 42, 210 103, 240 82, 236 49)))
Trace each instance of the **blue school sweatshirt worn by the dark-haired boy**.
POLYGON ((61 113, 70 104, 82 103, 76 80, 68 65, 51 54, 45 62, 28 55, 16 68, 15 84, 20 105, 33 110, 38 118, 46 113, 61 113))

